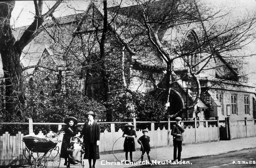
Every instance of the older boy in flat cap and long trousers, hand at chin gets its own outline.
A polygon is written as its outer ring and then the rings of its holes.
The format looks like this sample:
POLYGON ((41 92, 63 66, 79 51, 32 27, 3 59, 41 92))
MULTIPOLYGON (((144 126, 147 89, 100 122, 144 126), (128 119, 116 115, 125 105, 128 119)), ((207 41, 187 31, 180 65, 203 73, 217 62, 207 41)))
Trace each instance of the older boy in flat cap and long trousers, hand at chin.
POLYGON ((178 148, 178 162, 180 161, 182 151, 182 133, 185 131, 182 125, 180 125, 181 118, 175 118, 176 124, 172 126, 171 135, 173 136, 173 160, 177 159, 177 148, 178 148))

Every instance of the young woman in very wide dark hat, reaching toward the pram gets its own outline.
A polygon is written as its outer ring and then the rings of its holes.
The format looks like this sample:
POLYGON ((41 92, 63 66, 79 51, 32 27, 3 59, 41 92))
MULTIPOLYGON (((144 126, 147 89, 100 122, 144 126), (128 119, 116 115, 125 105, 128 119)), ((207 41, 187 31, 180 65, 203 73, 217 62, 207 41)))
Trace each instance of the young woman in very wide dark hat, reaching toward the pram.
POLYGON ((77 119, 75 117, 67 117, 64 121, 65 126, 63 126, 56 134, 59 135, 60 132, 65 132, 62 139, 61 150, 60 150, 60 157, 65 159, 64 165, 67 165, 68 159, 68 145, 70 143, 70 138, 76 136, 77 134, 77 119))

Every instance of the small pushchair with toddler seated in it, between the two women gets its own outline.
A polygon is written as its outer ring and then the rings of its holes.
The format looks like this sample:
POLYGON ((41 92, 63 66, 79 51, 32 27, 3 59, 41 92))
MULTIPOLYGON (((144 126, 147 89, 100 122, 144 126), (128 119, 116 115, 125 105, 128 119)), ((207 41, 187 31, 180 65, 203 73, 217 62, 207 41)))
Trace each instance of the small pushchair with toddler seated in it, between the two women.
POLYGON ((77 165, 84 168, 84 161, 82 160, 82 155, 84 153, 83 139, 79 137, 71 137, 68 146, 68 164, 67 168, 70 168, 70 164, 77 165))

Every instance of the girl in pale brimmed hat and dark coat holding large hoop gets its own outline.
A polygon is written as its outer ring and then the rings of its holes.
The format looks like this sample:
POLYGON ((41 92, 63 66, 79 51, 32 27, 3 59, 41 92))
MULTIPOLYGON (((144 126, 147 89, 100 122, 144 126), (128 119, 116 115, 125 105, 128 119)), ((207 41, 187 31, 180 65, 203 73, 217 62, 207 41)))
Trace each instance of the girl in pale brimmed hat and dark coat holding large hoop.
POLYGON ((128 123, 124 126, 124 134, 123 137, 124 139, 124 152, 125 152, 125 159, 128 162, 128 152, 130 152, 130 162, 133 162, 132 160, 132 152, 135 151, 135 142, 134 142, 134 137, 136 138, 136 132, 132 129, 134 126, 132 123, 128 123), (128 135, 128 136, 127 136, 128 135), (131 136, 131 137, 130 137, 131 136))

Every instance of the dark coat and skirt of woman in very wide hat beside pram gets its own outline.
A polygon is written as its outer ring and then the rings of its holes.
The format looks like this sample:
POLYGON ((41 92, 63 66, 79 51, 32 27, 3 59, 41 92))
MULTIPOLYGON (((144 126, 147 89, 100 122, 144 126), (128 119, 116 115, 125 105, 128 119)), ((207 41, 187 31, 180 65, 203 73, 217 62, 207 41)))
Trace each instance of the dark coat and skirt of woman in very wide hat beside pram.
POLYGON ((65 134, 63 135, 63 139, 62 139, 61 150, 60 150, 60 157, 61 158, 68 158, 67 148, 68 148, 68 145, 70 143, 70 138, 76 136, 77 128, 76 128, 75 125, 73 125, 72 127, 69 126, 69 125, 65 125, 56 134, 59 135, 60 132, 62 132, 62 131, 64 131, 65 134), (73 132, 70 131, 68 129, 68 127, 70 127, 73 132))

